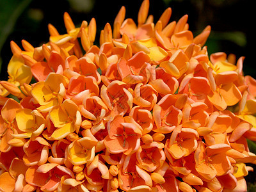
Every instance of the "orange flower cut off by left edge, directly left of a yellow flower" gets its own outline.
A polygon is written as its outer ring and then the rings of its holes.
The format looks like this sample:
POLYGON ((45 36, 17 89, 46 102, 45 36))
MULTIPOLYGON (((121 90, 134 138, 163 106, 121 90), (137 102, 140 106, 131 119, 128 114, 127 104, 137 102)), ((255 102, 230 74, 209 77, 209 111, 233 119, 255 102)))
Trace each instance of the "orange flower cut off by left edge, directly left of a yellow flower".
POLYGON ((12 134, 17 134, 17 124, 15 122, 16 112, 21 109, 20 104, 13 100, 8 99, 3 108, 1 109, 0 116, 0 136, 1 136, 1 144, 0 151, 8 152, 12 145, 8 144, 8 141, 12 140, 12 134))

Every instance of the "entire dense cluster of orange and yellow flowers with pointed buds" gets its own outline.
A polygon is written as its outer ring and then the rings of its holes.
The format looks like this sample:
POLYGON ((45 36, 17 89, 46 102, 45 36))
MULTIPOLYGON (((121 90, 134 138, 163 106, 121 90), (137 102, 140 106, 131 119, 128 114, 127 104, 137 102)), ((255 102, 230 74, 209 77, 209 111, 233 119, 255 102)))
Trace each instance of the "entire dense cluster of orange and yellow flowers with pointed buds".
POLYGON ((148 6, 138 24, 123 6, 99 46, 95 19, 76 28, 68 13, 67 34, 11 42, 0 191, 246 191, 256 80, 244 58, 208 56, 209 26, 194 37, 171 8, 154 24, 148 6))

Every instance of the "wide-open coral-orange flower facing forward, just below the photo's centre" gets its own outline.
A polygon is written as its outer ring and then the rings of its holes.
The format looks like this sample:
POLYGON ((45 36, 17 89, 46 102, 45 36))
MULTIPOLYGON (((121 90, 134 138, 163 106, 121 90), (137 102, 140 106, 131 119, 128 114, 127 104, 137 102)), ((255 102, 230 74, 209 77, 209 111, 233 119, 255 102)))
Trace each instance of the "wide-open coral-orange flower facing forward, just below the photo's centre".
POLYGON ((104 144, 113 154, 132 154, 140 147, 140 137, 141 131, 136 125, 125 122, 122 115, 116 115, 108 122, 108 136, 104 144))

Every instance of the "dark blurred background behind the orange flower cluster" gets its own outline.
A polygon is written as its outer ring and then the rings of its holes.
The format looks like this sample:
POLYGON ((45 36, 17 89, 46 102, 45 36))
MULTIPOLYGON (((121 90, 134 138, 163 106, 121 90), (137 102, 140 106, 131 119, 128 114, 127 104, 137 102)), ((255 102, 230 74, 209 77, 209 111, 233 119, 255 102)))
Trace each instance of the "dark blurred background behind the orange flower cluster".
MULTIPOLYGON (((60 34, 65 34, 63 13, 68 12, 77 27, 83 20, 97 22, 96 44, 99 33, 106 22, 113 26, 116 14, 124 5, 126 17, 137 21, 142 0, 0 0, 0 69, 1 80, 8 79, 7 65, 12 58, 10 41, 20 47, 21 40, 27 40, 34 47, 49 41, 47 24, 55 26, 60 34)), ((150 0, 149 14, 156 22, 164 10, 172 8, 173 20, 188 14, 189 30, 196 36, 207 25, 212 28, 207 40, 209 54, 226 52, 241 56, 244 60, 244 74, 256 78, 254 30, 255 6, 250 0, 150 0)), ((254 148, 256 152, 256 147, 254 148)), ((255 166, 254 166, 255 168, 255 166)), ((256 168, 255 168, 256 169, 256 168)), ((248 191, 255 191, 255 173, 246 177, 248 191)))

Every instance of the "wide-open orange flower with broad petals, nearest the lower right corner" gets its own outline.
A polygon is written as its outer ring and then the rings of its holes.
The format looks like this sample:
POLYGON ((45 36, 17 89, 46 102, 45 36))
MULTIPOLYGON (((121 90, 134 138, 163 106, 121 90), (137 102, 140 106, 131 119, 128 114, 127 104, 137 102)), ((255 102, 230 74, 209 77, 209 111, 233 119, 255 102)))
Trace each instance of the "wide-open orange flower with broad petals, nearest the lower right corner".
POLYGON ((208 180, 225 175, 231 168, 225 154, 229 149, 230 146, 223 143, 205 148, 205 144, 199 142, 195 151, 196 171, 208 180))

